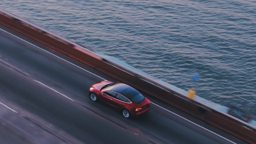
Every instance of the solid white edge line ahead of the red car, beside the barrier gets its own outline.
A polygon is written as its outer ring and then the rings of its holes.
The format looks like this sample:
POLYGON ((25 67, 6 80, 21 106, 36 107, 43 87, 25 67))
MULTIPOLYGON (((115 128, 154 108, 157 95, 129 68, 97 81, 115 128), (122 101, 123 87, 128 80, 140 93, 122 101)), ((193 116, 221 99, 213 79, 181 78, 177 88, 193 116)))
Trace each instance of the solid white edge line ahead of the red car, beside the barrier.
POLYGON ((63 59, 63 58, 61 58, 61 57, 59 57, 59 56, 57 56, 57 55, 55 55, 55 54, 53 54, 53 53, 51 53, 51 52, 48 52, 48 51, 46 51, 46 50, 44 50, 44 49, 42 49, 42 48, 36 46, 35 44, 32 44, 32 43, 30 43, 30 42, 28 42, 28 41, 26 41, 26 40, 24 40, 24 39, 22 39, 22 38, 20 38, 20 37, 18 37, 18 36, 15 36, 15 35, 9 33, 8 31, 5 31, 4 29, 1 29, 1 28, 0 28, 0 30, 2 30, 2 31, 4 31, 4 32, 6 32, 6 33, 8 33, 8 34, 10 34, 10 35, 12 35, 12 36, 14 36, 14 37, 16 37, 16 38, 22 40, 22 41, 28 43, 28 44, 31 44, 31 45, 35 46, 36 48, 38 48, 38 49, 40 49, 40 50, 43 50, 44 52, 47 52, 47 53, 49 53, 49 54, 51 54, 51 55, 53 55, 53 56, 55 56, 55 57, 57 57, 57 58, 59 58, 59 59, 61 59, 61 60, 64 60, 64 61, 68 62, 69 64, 71 64, 71 65, 73 65, 73 66, 75 66, 75 67, 77 67, 77 68, 80 68, 80 69, 82 69, 82 70, 84 70, 84 71, 86 71, 86 72, 88 72, 88 73, 90 73, 90 74, 92 74, 92 75, 94 75, 94 76, 97 76, 97 77, 99 77, 99 78, 101 78, 101 79, 103 79, 103 80, 106 80, 105 78, 103 78, 103 77, 101 77, 101 76, 98 76, 98 75, 96 75, 96 74, 94 74, 94 73, 92 73, 92 72, 90 72, 90 71, 88 71, 88 70, 86 70, 86 69, 84 69, 84 68, 81 68, 81 67, 79 67, 79 66, 73 64, 72 62, 69 62, 68 60, 65 60, 65 59, 63 59))

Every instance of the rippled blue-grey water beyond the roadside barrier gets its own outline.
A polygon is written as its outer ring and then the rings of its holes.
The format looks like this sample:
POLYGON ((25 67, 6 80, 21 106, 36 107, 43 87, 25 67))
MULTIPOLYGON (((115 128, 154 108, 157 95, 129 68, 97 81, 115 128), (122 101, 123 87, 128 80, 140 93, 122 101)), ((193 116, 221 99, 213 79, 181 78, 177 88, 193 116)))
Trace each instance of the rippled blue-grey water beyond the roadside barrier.
POLYGON ((256 102, 256 1, 1 0, 0 6, 184 90, 197 71, 197 95, 207 100, 229 106, 238 95, 256 102))

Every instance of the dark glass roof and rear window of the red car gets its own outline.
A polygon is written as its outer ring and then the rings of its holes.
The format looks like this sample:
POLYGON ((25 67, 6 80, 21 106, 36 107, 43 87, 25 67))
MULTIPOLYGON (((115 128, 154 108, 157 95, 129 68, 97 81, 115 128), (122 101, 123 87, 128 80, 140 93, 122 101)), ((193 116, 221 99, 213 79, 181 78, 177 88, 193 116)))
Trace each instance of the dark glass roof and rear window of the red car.
POLYGON ((135 90, 134 88, 126 84, 111 85, 105 88, 104 90, 118 92, 123 96, 131 99, 135 103, 141 103, 142 101, 145 100, 145 98, 140 94, 140 92, 138 92, 137 90, 135 90))

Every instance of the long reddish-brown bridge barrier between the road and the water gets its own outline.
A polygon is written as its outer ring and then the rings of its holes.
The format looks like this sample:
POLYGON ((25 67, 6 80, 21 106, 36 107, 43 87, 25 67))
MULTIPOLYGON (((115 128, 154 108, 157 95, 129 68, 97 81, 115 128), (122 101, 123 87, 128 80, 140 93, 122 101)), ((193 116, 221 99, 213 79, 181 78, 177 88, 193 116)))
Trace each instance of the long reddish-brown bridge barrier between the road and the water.
POLYGON ((111 61, 103 60, 97 54, 78 46, 68 39, 52 34, 43 28, 37 27, 26 20, 2 10, 0 10, 0 26, 106 76, 115 78, 159 100, 163 100, 169 105, 227 132, 240 140, 256 144, 256 130, 250 124, 188 99, 180 93, 165 88, 164 85, 150 81, 147 77, 138 76, 127 69, 118 68, 118 66, 111 63, 111 61))

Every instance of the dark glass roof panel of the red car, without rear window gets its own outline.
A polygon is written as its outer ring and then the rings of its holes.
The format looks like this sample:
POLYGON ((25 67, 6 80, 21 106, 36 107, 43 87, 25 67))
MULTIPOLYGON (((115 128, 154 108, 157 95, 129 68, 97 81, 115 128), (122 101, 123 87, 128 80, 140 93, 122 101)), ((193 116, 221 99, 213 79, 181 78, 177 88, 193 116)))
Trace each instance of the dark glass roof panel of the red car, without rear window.
POLYGON ((136 89, 132 88, 127 84, 122 84, 122 83, 109 86, 104 90, 118 92, 129 99, 132 99, 136 95, 140 94, 140 92, 138 92, 136 89))

